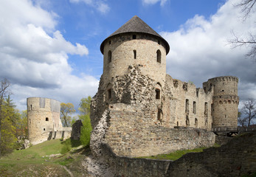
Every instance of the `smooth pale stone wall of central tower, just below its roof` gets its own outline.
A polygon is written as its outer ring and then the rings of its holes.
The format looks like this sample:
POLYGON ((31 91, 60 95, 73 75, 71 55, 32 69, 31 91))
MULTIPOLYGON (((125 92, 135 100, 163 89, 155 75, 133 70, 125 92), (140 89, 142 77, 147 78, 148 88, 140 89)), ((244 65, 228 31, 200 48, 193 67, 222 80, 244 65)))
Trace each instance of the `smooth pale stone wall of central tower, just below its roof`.
POLYGON ((142 74, 165 85, 166 49, 156 37, 127 33, 109 38, 105 42, 103 60, 103 79, 107 84, 111 83, 112 77, 128 74, 128 66, 141 65, 142 74), (136 35, 136 39, 133 39, 133 35, 136 35), (158 50, 161 53, 160 63, 157 62, 158 50))

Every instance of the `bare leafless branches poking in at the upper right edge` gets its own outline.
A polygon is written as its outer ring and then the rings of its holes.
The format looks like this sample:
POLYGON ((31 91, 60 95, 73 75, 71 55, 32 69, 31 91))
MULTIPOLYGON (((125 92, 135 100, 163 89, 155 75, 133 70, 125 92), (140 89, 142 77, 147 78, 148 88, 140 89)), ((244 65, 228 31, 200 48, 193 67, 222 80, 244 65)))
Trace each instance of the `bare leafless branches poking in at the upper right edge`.
MULTIPOLYGON (((255 3, 256 0, 241 0, 241 3, 235 5, 235 7, 241 8, 244 21, 246 21, 246 18, 248 18, 249 14, 252 12, 255 3)), ((233 48, 238 46, 248 46, 250 51, 246 54, 246 56, 256 60, 256 35, 252 32, 249 32, 247 38, 239 38, 237 35, 235 35, 235 32, 233 32, 233 35, 235 38, 229 41, 233 48)))

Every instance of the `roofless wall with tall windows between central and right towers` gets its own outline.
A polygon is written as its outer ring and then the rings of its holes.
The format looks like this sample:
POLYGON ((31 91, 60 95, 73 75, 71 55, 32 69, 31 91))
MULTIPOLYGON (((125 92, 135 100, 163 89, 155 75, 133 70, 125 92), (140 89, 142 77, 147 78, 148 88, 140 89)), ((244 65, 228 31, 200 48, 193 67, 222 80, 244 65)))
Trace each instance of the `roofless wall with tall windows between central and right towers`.
POLYGON ((170 125, 210 130, 212 91, 205 93, 203 89, 196 89, 193 83, 182 82, 169 75, 166 77, 166 83, 172 93, 168 105, 170 125))

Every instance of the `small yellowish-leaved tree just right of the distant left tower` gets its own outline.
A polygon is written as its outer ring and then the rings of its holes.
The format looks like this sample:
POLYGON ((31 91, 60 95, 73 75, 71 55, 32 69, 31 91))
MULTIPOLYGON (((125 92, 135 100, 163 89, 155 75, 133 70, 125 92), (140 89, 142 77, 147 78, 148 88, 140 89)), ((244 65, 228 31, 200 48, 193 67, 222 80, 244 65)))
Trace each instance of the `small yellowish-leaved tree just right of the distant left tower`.
POLYGON ((60 104, 60 119, 64 127, 69 127, 71 123, 71 117, 69 114, 75 112, 74 105, 72 103, 60 104))

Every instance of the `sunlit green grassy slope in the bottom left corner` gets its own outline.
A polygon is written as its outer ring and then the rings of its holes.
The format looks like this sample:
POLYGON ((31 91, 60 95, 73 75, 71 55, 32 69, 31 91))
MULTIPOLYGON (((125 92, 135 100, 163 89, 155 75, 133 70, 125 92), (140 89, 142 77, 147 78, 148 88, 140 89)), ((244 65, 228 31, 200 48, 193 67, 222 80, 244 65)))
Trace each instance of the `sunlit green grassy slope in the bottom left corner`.
MULTIPOLYGON (((83 160, 83 152, 89 153, 88 149, 72 150, 70 153, 49 157, 51 154, 60 153, 63 143, 55 139, 34 145, 26 150, 16 150, 9 156, 0 159, 1 176, 69 176, 62 165, 77 170, 83 160)), ((73 173, 73 172, 72 172, 73 173)), ((81 175, 74 171, 75 174, 81 175)))

